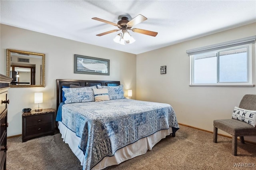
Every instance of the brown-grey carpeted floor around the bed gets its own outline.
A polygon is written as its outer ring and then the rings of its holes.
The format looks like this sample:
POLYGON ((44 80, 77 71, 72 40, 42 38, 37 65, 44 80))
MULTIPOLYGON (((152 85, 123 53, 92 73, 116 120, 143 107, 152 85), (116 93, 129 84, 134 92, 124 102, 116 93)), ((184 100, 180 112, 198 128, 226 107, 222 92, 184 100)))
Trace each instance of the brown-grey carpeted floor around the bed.
MULTIPOLYGON (((106 170, 230 170, 256 169, 256 145, 238 141, 238 156, 231 154, 231 139, 180 125, 176 137, 167 136, 151 151, 106 170), (239 164, 235 167, 234 164, 239 164), (241 167, 254 166, 254 167, 241 167)), ((22 143, 8 138, 7 170, 81 170, 79 160, 59 133, 22 143)))

